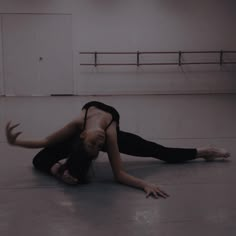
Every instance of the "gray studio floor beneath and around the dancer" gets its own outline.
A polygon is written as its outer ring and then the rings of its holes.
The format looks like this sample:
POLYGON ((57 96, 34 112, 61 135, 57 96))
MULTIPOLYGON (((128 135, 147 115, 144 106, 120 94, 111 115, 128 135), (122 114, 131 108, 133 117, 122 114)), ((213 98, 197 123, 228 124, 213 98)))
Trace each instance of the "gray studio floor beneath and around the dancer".
POLYGON ((7 120, 21 122, 22 138, 39 138, 91 99, 1 98, 1 236, 236 235, 235 95, 99 97, 119 108, 126 130, 164 145, 210 144, 231 152, 228 161, 180 165, 122 156, 127 172, 158 184, 171 195, 166 200, 146 199, 142 191, 114 183, 106 154, 94 163, 91 184, 70 187, 32 168, 37 150, 7 145, 7 120))

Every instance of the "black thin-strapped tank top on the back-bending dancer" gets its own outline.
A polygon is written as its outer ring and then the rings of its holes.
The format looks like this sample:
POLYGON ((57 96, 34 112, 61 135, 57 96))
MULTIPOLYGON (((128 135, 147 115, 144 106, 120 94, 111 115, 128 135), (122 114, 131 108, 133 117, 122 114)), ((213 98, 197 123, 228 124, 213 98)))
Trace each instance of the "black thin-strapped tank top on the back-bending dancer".
POLYGON ((105 112, 108 112, 112 115, 112 120, 110 121, 110 123, 107 125, 107 127, 105 128, 105 131, 107 130, 107 128, 112 124, 113 121, 116 122, 117 124, 117 129, 119 129, 119 122, 120 122, 120 115, 118 113, 118 111, 112 107, 112 106, 109 106, 109 105, 106 105, 102 102, 97 102, 97 101, 91 101, 91 102, 88 102, 86 103, 83 107, 82 107, 82 110, 86 110, 85 111, 85 117, 84 117, 84 126, 83 126, 83 130, 85 129, 86 127, 86 121, 87 121, 87 113, 88 113, 88 109, 90 107, 96 107, 102 111, 105 111, 105 112))

